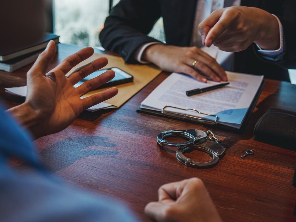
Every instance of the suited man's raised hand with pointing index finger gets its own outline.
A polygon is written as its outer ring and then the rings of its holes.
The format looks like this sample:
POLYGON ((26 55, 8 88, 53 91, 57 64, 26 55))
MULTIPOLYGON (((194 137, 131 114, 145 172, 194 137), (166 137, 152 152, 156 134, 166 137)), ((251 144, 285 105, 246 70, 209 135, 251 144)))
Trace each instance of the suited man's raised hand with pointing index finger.
POLYGON ((264 50, 280 47, 279 22, 270 13, 252 7, 233 6, 215 10, 199 24, 202 43, 226 52, 239 52, 253 42, 264 50))

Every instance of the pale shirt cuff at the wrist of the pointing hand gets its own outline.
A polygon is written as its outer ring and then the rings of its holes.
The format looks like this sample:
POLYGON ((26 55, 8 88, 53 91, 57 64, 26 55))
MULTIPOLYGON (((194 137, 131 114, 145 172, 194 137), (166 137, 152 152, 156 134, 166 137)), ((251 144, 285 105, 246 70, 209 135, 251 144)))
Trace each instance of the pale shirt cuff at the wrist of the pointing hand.
MULTIPOLYGON (((275 15, 273 15, 274 17, 276 17, 275 15)), ((281 25, 281 21, 279 20, 278 17, 276 17, 276 19, 279 22, 279 38, 280 38, 280 47, 279 49, 276 50, 264 50, 261 49, 260 46, 257 45, 257 47, 259 48, 258 52, 260 52, 262 54, 262 56, 265 59, 268 60, 279 60, 279 55, 281 55, 284 52, 284 30, 283 30, 283 26, 281 25)))

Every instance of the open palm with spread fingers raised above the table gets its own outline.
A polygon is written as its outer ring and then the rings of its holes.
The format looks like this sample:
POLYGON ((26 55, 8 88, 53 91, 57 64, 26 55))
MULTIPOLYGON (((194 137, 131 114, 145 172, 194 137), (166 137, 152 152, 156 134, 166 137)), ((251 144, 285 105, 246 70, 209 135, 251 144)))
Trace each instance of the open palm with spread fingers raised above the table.
POLYGON ((104 57, 95 59, 66 78, 65 75, 74 66, 91 57, 94 49, 91 47, 81 49, 45 73, 55 53, 54 41, 50 41, 27 73, 26 101, 8 110, 33 134, 35 139, 65 129, 83 110, 110 99, 118 93, 118 89, 113 87, 81 99, 80 97, 84 94, 114 78, 115 73, 110 70, 86 81, 76 89, 73 87, 87 75, 107 65, 108 60, 104 57))

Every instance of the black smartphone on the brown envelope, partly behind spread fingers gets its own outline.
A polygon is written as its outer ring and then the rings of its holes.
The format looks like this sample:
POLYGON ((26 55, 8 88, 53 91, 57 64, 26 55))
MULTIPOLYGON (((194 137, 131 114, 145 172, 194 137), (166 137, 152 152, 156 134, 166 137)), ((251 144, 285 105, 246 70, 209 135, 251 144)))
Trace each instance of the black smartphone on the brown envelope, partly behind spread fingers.
POLYGON ((81 86, 84 82, 86 82, 90 79, 93 79, 108 70, 113 70, 115 72, 115 77, 113 79, 111 79, 109 82, 103 84, 102 86, 99 86, 96 89, 102 89, 102 88, 116 86, 116 85, 123 84, 123 83, 133 82, 133 76, 131 74, 128 74, 119 68, 113 67, 110 69, 102 69, 102 70, 95 71, 94 73, 91 73, 90 75, 86 76, 84 79, 82 79, 81 81, 76 83, 74 85, 74 88, 81 86))

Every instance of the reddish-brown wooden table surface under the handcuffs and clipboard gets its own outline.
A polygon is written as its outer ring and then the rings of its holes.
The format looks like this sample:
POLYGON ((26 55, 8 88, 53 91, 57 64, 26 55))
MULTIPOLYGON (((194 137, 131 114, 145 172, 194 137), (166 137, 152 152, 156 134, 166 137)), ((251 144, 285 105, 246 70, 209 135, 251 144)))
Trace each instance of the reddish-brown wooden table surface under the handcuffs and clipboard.
MULTIPOLYGON (((50 68, 78 49, 61 44, 50 68)), ((3 86, 25 85, 29 67, 15 73, 0 71, 0 94, 7 107, 24 99, 4 92, 3 86)), ((37 139, 44 163, 70 184, 118 198, 142 221, 149 221, 144 207, 157 200, 162 184, 191 177, 204 181, 223 221, 296 221, 296 188, 291 184, 296 152, 263 143, 253 135, 256 121, 270 106, 296 111, 296 85, 266 79, 247 129, 241 134, 137 113, 140 103, 167 76, 158 75, 119 109, 85 111, 64 131, 37 139), (227 151, 217 166, 186 167, 174 153, 157 146, 158 133, 191 128, 211 129, 223 140, 227 151), (255 154, 242 160, 246 149, 254 149, 255 154)), ((209 159, 202 152, 192 152, 189 157, 209 159)))

